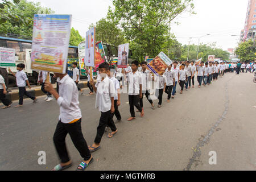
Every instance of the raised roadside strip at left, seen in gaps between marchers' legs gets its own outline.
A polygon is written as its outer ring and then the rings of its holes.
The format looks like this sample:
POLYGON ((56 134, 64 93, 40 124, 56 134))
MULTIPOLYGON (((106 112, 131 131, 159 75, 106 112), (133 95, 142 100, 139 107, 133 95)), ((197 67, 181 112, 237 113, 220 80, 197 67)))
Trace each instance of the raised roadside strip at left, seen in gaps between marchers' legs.
MULTIPOLYGON (((56 84, 53 84, 53 88, 56 89, 56 84)), ((87 81, 79 81, 79 88, 84 89, 87 88, 87 81)), ((32 86, 31 89, 26 87, 26 90, 28 93, 30 93, 33 97, 38 97, 38 96, 43 96, 44 93, 41 90, 41 85, 40 86, 32 86)), ((10 93, 6 94, 6 98, 8 98, 11 101, 19 100, 19 89, 15 88, 12 89, 10 93)), ((24 96, 24 98, 27 98, 27 96, 24 96)))

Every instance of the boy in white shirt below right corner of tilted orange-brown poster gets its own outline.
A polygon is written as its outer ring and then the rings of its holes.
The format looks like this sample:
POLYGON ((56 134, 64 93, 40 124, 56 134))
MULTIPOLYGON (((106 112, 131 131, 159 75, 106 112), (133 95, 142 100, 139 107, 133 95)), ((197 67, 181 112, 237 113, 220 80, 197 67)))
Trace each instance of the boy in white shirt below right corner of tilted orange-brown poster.
POLYGON ((172 88, 174 88, 175 86, 175 72, 172 70, 172 64, 170 64, 166 70, 166 72, 164 73, 166 76, 166 94, 168 94, 167 96, 167 101, 166 102, 170 102, 170 98, 171 98, 171 94, 172 94, 172 88))

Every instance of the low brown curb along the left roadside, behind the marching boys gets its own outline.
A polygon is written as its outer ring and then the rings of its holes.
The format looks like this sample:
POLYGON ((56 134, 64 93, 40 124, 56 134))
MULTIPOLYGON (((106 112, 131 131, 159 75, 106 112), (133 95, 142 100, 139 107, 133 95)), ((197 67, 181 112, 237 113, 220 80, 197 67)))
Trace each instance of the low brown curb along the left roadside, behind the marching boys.
MULTIPOLYGON (((79 88, 84 89, 88 88, 87 86, 87 81, 79 83, 79 88)), ((53 88, 56 89, 56 84, 54 84, 53 88)), ((26 88, 27 89, 27 88, 26 88)), ((30 89, 27 90, 28 93, 31 94, 32 97, 38 97, 38 96, 43 96, 44 93, 42 92, 41 88, 36 88, 36 89, 30 89)), ((16 101, 19 100, 19 92, 10 92, 6 94, 6 98, 9 99, 10 101, 16 101)), ((27 96, 24 96, 23 98, 28 98, 27 96)))

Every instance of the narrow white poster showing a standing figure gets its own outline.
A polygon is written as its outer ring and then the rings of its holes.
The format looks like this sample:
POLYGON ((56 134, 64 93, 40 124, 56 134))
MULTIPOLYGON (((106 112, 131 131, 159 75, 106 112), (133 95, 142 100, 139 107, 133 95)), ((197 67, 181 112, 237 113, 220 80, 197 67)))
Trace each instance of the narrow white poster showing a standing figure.
POLYGON ((129 43, 118 46, 117 68, 127 68, 129 55, 129 43))

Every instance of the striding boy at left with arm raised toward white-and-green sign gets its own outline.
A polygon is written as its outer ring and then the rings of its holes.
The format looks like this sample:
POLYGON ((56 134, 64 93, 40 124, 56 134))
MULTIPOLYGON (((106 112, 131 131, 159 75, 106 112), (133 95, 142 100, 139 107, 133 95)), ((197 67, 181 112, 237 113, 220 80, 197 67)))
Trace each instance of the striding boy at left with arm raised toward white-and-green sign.
POLYGON ((28 85, 28 88, 31 89, 30 82, 28 81, 26 73, 23 71, 25 68, 25 65, 23 63, 20 63, 16 65, 16 69, 18 72, 13 73, 11 69, 9 68, 9 72, 16 77, 16 85, 19 88, 19 105, 15 106, 15 108, 22 107, 23 106, 23 97, 24 95, 31 98, 33 102, 37 102, 38 100, 36 97, 32 97, 30 93, 27 92, 26 90, 26 83, 28 85))

